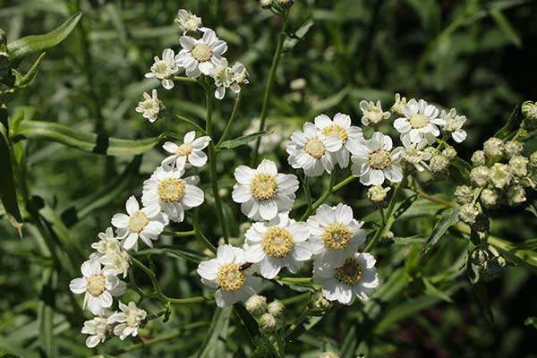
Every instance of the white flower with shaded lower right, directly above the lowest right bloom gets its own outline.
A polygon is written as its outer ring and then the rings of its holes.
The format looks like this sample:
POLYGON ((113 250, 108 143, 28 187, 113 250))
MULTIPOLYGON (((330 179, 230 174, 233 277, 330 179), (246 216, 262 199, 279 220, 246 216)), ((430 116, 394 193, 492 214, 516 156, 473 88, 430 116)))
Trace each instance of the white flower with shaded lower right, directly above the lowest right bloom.
POLYGON ((343 264, 345 257, 351 256, 365 243, 363 222, 353 217, 353 209, 345 204, 336 207, 321 205, 314 216, 308 218, 311 232, 311 249, 316 261, 326 265, 343 264))

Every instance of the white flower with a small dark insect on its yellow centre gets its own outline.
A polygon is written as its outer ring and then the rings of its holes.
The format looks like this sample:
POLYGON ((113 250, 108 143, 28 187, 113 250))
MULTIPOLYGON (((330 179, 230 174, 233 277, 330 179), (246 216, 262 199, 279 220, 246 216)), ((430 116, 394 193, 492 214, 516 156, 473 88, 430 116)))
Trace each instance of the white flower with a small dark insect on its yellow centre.
POLYGON ((243 269, 245 263, 243 249, 229 244, 218 246, 216 259, 200 262, 198 275, 204 285, 217 288, 218 307, 246 302, 257 294, 261 278, 251 276, 250 269, 243 269))

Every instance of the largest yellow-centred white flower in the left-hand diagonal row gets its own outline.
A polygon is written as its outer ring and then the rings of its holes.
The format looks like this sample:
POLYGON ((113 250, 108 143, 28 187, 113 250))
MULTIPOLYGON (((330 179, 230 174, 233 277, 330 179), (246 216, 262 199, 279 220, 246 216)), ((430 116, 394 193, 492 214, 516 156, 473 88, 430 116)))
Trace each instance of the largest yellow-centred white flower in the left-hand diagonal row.
POLYGON ((183 169, 165 170, 158 166, 153 175, 143 183, 141 202, 145 207, 158 207, 166 216, 180 223, 184 210, 199 207, 205 200, 203 191, 195 186, 198 176, 183 178, 183 169))

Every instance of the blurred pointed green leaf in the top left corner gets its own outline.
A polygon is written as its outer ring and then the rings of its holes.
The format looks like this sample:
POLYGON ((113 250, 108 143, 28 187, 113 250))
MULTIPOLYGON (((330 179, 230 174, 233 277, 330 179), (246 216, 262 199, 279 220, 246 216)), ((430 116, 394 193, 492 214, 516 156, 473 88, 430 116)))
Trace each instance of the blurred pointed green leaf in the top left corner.
POLYGON ((81 20, 81 13, 73 14, 67 21, 44 35, 31 35, 25 38, 14 40, 7 45, 8 54, 11 60, 21 59, 31 53, 42 51, 44 49, 55 47, 62 42, 74 30, 81 20))

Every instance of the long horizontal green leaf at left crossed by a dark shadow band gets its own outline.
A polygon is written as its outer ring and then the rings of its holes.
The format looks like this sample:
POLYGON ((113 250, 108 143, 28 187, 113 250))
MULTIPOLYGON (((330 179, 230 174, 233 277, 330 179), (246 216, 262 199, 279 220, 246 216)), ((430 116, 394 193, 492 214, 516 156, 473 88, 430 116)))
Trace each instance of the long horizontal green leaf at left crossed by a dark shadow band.
POLYGON ((17 131, 13 132, 13 141, 36 140, 55 141, 66 146, 81 149, 89 153, 107 156, 136 156, 155 148, 161 141, 173 137, 170 133, 162 133, 158 137, 142 140, 122 140, 84 132, 64 124, 39 121, 24 121, 17 131))

